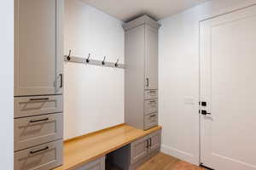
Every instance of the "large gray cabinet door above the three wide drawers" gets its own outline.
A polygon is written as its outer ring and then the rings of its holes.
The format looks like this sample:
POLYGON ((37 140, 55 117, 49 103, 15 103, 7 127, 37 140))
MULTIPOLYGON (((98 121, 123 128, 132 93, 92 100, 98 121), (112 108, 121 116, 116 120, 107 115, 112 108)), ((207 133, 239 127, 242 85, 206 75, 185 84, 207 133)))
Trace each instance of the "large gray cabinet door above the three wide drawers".
POLYGON ((15 96, 62 93, 62 0, 15 0, 15 96))

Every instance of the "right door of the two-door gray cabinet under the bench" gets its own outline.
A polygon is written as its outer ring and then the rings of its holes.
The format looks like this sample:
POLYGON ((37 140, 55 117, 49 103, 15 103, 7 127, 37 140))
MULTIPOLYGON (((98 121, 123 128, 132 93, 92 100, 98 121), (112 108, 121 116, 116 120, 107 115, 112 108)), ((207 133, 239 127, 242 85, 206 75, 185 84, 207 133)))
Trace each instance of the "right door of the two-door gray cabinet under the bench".
POLYGON ((151 153, 154 150, 160 149, 161 144, 161 130, 158 130, 154 133, 148 135, 149 139, 149 150, 148 152, 151 153))

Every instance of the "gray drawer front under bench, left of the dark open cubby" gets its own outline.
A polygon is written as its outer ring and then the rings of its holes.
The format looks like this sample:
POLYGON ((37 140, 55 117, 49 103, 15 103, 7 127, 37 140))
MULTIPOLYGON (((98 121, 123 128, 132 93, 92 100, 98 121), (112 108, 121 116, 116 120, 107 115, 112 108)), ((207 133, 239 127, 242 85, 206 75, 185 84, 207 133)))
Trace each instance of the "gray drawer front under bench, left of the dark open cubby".
POLYGON ((90 161, 76 170, 105 170, 105 156, 102 156, 95 161, 90 161))

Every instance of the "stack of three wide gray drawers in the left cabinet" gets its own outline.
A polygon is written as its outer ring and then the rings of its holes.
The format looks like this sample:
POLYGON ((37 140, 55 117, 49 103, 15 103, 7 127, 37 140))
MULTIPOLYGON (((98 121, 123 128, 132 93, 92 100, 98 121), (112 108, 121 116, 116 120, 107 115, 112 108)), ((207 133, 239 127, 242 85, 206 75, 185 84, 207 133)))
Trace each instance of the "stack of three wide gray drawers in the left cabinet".
POLYGON ((15 97, 15 170, 62 163, 62 95, 15 97))

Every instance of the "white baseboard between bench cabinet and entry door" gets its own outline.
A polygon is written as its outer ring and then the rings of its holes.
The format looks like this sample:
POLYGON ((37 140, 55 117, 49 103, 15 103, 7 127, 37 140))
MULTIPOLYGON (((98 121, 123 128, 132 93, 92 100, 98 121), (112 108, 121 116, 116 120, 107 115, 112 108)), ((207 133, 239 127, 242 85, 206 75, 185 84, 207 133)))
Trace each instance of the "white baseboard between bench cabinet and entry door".
POLYGON ((182 161, 187 161, 191 164, 198 165, 199 164, 199 157, 193 156, 187 152, 184 152, 182 150, 176 150, 172 147, 166 146, 164 144, 161 145, 161 152, 165 153, 169 156, 177 157, 178 159, 182 161))

